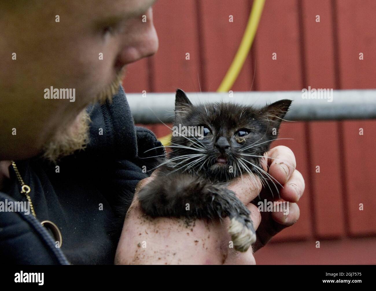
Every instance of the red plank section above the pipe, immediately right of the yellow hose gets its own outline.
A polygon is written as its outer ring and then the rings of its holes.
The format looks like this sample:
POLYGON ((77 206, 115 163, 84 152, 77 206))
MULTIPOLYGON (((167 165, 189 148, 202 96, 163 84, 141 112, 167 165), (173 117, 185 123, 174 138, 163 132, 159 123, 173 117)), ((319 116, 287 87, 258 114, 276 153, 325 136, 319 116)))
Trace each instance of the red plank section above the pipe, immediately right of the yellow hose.
POLYGON ((258 90, 302 90, 298 24, 296 0, 265 2, 255 41, 258 90))

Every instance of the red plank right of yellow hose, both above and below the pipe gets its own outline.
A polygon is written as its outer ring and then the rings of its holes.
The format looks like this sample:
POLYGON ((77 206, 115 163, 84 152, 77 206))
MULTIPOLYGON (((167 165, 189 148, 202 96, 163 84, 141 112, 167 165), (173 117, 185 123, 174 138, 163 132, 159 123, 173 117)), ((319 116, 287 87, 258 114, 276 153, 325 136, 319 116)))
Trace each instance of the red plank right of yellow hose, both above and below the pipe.
MULTIPOLYGON (((256 82, 260 91, 302 90, 302 66, 297 1, 266 1, 255 42, 256 82), (277 59, 272 54, 277 53, 277 59)), ((273 240, 301 239, 312 236, 310 184, 308 177, 306 133, 304 122, 281 126, 282 140, 275 145, 292 149, 297 160, 297 169, 306 180, 306 190, 299 201, 300 219, 293 227, 280 232, 273 240)))

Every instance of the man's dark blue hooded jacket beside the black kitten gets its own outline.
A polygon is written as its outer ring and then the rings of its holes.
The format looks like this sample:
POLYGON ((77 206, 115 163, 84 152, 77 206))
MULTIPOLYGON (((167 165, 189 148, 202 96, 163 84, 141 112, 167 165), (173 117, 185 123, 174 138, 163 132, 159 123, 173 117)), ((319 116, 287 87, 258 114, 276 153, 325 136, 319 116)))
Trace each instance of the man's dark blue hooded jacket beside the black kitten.
MULTIPOLYGON (((149 157, 164 151, 144 153, 161 143, 151 131, 134 125, 122 87, 112 103, 89 110, 89 145, 59 161, 59 172, 55 164, 38 157, 16 161, 24 183, 31 187, 36 218, 31 213, 0 212, 1 263, 113 264, 135 186, 158 162, 149 157), (61 248, 40 224, 43 220, 58 225, 61 248)), ((9 171, 11 179, 0 201, 26 201, 13 168, 9 171)))

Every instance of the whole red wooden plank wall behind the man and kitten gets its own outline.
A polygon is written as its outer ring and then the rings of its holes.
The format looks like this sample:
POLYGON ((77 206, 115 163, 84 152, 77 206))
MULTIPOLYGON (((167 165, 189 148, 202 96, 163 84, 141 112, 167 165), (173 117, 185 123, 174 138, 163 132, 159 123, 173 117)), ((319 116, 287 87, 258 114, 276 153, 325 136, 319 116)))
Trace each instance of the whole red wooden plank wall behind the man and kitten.
MULTIPOLYGON (((237 51, 251 6, 247 0, 157 2, 159 50, 129 65, 126 92, 215 91, 237 51)), ((376 88, 375 13, 374 0, 267 0, 232 90, 376 88), (271 58, 274 52, 277 60, 271 58)), ((258 264, 376 264, 375 126, 375 120, 283 124, 281 137, 294 140, 276 145, 294 151, 306 190, 299 221, 256 253, 258 264)), ((157 136, 169 133, 163 125, 147 127, 157 136)))

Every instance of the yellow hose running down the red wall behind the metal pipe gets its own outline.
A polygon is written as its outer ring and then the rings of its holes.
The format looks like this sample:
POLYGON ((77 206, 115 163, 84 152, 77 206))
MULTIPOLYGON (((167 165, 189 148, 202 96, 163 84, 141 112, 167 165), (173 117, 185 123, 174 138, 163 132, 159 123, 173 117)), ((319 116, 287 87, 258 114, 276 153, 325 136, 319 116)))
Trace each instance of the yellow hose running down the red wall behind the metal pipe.
MULTIPOLYGON (((243 38, 239 45, 238 51, 227 70, 217 92, 227 92, 235 83, 239 76, 240 70, 246 61, 247 55, 252 47, 253 40, 255 39, 258 24, 260 22, 262 9, 264 8, 265 0, 254 0, 251 13, 249 15, 246 30, 244 31, 243 38)), ((171 134, 159 138, 162 145, 166 146, 171 141, 171 134)))

